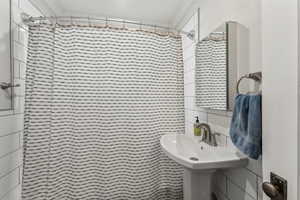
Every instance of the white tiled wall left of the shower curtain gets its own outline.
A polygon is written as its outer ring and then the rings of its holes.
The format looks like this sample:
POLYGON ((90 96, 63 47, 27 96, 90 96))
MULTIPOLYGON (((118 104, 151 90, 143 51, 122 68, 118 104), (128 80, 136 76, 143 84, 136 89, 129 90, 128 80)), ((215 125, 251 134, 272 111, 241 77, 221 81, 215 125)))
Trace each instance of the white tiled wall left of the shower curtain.
MULTIPOLYGON (((2 8, 0 8, 1 10, 2 8)), ((0 112, 0 200, 21 199, 24 90, 28 31, 20 13, 41 13, 29 0, 12 0, 14 82, 21 87, 14 92, 14 110, 0 112)), ((0 71, 1 73, 1 71, 0 71)))

